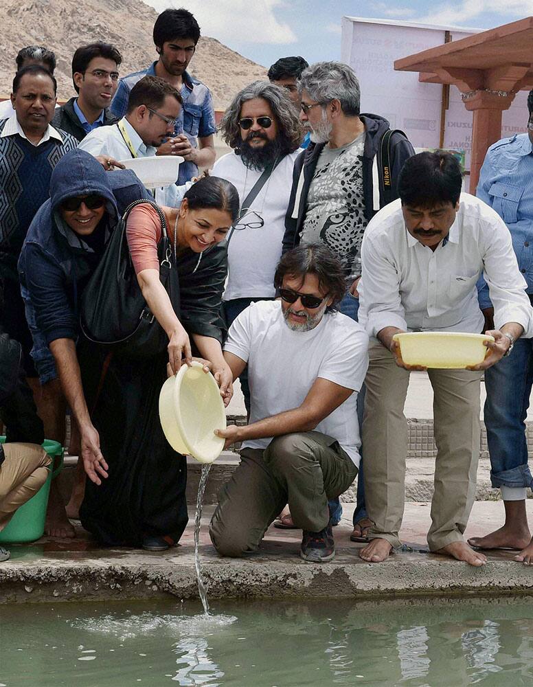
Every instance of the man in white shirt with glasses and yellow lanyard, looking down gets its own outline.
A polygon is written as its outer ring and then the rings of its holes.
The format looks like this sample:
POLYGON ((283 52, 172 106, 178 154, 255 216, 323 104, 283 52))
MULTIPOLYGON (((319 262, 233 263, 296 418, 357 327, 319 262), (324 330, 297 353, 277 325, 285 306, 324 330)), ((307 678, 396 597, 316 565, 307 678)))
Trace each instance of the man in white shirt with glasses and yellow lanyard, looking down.
MULTIPOLYGON (((122 167, 118 161, 130 157, 153 157, 174 131, 180 109, 181 95, 173 86, 157 76, 145 76, 131 89, 126 116, 113 126, 93 129, 78 148, 97 157, 106 170, 122 167)), ((155 189, 155 200, 177 207, 185 190, 171 183, 155 189)))

